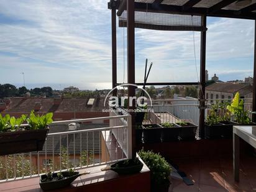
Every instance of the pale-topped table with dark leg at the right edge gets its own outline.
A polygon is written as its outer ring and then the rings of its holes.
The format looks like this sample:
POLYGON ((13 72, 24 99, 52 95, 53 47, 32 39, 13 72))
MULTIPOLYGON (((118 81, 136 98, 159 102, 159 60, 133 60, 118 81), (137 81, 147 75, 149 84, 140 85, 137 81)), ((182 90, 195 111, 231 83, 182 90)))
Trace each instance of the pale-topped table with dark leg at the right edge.
POLYGON ((233 168, 234 179, 239 182, 240 139, 256 149, 256 126, 233 126, 233 168))

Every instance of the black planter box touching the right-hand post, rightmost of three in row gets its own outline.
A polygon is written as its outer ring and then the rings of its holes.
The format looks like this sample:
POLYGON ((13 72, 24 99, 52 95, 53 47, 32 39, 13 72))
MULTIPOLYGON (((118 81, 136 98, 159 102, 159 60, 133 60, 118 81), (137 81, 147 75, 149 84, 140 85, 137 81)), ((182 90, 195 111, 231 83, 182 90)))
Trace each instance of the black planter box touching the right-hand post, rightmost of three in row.
MULTIPOLYGON (((176 123, 180 126, 179 123, 176 123)), ((179 128, 179 137, 181 140, 194 140, 196 137, 196 128, 198 126, 191 124, 190 122, 186 122, 188 126, 181 126, 179 128)))

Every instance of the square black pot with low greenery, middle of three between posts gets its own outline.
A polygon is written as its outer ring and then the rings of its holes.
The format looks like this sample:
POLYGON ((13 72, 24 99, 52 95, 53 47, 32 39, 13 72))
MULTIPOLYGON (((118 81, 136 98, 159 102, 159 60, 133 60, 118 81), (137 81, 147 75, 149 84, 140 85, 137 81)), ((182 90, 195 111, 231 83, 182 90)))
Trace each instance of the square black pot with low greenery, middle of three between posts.
POLYGON ((160 124, 160 126, 163 127, 162 129, 162 142, 170 142, 178 140, 179 136, 179 126, 176 124, 165 122, 163 124, 160 124))

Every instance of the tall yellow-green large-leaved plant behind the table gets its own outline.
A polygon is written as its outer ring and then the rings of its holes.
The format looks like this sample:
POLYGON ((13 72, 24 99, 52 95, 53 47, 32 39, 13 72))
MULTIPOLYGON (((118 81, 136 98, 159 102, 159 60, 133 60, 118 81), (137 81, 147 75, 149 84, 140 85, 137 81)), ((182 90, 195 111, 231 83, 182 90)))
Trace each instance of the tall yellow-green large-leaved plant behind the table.
POLYGON ((239 92, 235 93, 232 103, 227 106, 227 110, 234 115, 235 121, 239 124, 249 124, 251 122, 249 111, 244 110, 244 100, 240 99, 239 92))

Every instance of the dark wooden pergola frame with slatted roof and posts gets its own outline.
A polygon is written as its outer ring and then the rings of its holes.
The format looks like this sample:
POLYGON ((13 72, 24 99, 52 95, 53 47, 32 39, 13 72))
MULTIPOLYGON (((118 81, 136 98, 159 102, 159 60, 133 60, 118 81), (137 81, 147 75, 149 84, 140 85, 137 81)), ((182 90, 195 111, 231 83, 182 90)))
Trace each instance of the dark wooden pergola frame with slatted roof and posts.
MULTIPOLYGON (((204 135, 204 109, 205 109, 205 70, 206 70, 206 18, 227 17, 235 19, 252 19, 256 21, 256 0, 110 0, 108 8, 112 11, 112 86, 117 83, 117 50, 116 50, 116 15, 121 16, 124 11, 127 14, 127 77, 130 84, 143 85, 135 82, 135 27, 153 29, 152 25, 136 25, 135 12, 152 12, 158 14, 178 14, 201 17, 201 51, 200 51, 200 82, 201 91, 199 93, 199 133, 201 138, 204 135)), ((172 28, 175 29, 175 28, 172 28)), ((177 28, 179 30, 180 28, 177 28)), ((256 29, 256 22, 255 22, 256 29)), ((191 30, 191 29, 188 29, 191 30)), ((193 29, 192 29, 193 30, 193 29)), ((255 30, 256 34, 256 30, 255 30)), ((256 41, 256 35, 255 35, 256 41)), ((256 111, 256 43, 254 43, 254 93, 252 111, 256 111)), ((198 82, 183 83, 146 83, 146 85, 198 85, 198 82)), ((116 92, 114 92, 116 94, 116 92)), ((135 96, 135 88, 129 86, 128 96, 135 96)), ((135 103, 132 108, 135 108, 135 103)), ((253 114, 253 121, 256 120, 253 114)), ((134 122, 134 114, 132 114, 134 122)), ((135 125, 132 123, 132 148, 135 152, 135 125)))

